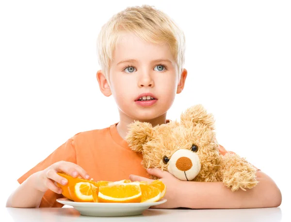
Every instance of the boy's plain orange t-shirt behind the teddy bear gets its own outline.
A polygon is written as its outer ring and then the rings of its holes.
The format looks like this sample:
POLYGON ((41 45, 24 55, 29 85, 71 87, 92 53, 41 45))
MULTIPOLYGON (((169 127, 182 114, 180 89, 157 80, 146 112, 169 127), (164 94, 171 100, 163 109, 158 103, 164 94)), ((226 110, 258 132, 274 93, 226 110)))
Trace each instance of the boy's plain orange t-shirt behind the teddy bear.
MULTIPOLYGON (((149 178, 146 169, 141 165, 142 154, 129 148, 128 143, 119 135, 116 125, 117 123, 104 129, 76 134, 17 181, 21 184, 31 174, 61 160, 81 166, 95 181, 129 179, 130 174, 149 178)), ((223 155, 227 153, 223 146, 219 148, 219 152, 223 155)), ((62 207, 56 199, 63 197, 62 194, 47 190, 40 207, 62 207)))

